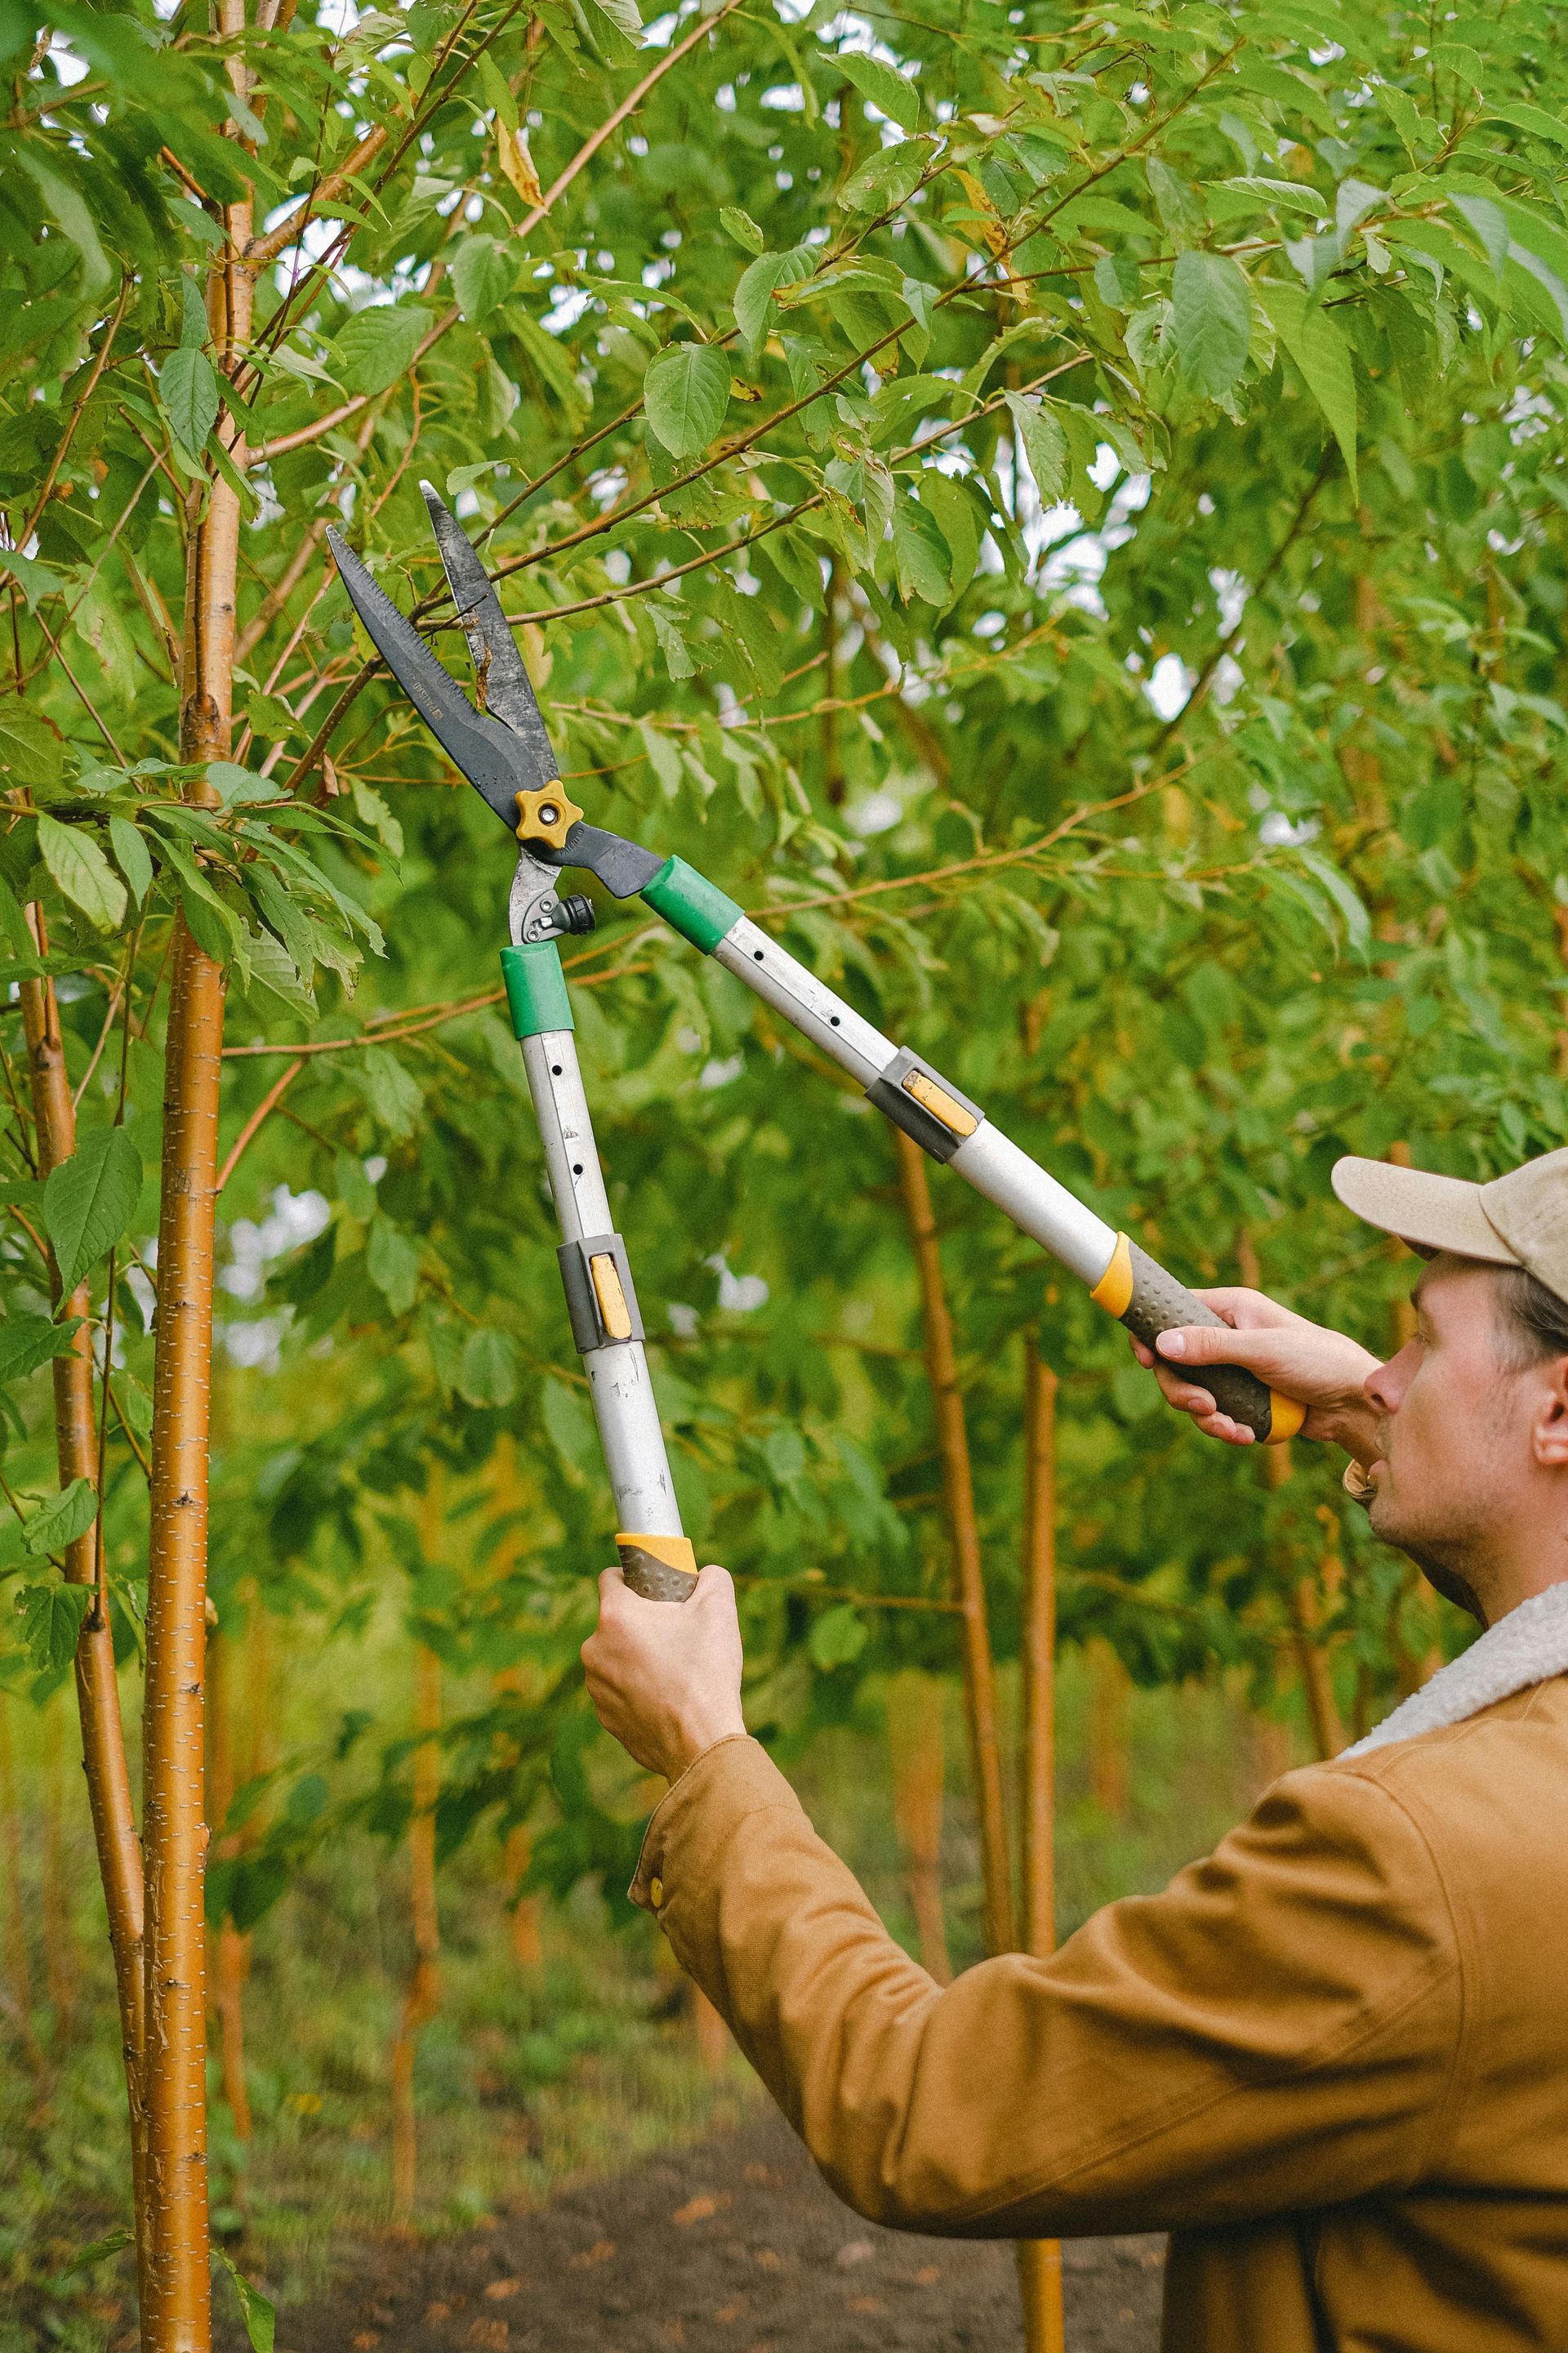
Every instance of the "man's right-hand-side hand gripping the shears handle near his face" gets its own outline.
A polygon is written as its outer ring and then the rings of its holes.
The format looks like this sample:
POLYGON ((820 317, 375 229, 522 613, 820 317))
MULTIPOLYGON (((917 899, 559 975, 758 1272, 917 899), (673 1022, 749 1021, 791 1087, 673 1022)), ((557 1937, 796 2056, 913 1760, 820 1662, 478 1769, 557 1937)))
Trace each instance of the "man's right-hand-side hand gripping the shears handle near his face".
POLYGON ((1378 1459, 1378 1409, 1363 1393, 1378 1358, 1368 1348, 1345 1339, 1342 1332, 1293 1315, 1262 1292, 1218 1289, 1197 1297, 1232 1329, 1182 1325, 1161 1332, 1159 1358, 1143 1341, 1133 1341, 1133 1355, 1152 1367, 1171 1405, 1192 1414, 1208 1438, 1251 1447, 1253 1433, 1229 1414, 1215 1412, 1211 1393, 1201 1386, 1204 1365, 1246 1365, 1269 1388, 1307 1407, 1302 1438, 1331 1438, 1363 1468, 1378 1459))

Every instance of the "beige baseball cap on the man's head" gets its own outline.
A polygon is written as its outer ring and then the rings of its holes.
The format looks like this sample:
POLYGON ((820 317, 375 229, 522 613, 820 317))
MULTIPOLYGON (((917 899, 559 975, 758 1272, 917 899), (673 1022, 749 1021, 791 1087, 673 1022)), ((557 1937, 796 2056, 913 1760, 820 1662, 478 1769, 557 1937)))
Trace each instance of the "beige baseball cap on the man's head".
POLYGON ((1432 1176, 1392 1160, 1335 1160, 1333 1188, 1347 1209, 1396 1233, 1410 1249, 1523 1266, 1568 1299, 1568 1151, 1542 1153, 1490 1184, 1432 1176))

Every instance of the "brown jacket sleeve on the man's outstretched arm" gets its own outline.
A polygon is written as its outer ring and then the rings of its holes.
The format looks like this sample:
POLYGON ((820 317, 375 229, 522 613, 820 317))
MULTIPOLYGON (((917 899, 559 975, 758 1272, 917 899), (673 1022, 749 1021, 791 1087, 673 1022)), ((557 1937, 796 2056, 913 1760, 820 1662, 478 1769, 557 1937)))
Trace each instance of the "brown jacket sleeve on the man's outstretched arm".
POLYGON ((1422 1833, 1354 1767, 1288 1774, 1164 1894, 947 1988, 743 1737, 654 1814, 632 1899, 875 2221, 1234 2224, 1406 2188, 1441 2146, 1455 1927, 1422 1833))

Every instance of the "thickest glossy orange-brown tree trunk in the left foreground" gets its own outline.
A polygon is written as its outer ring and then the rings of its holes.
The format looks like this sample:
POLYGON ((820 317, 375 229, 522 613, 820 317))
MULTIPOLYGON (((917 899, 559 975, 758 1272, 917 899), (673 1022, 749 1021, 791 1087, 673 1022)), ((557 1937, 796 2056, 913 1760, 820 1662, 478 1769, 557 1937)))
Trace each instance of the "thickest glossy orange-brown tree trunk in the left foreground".
MULTIPOLYGON (((226 40, 244 33, 242 0, 219 0, 216 14, 226 40)), ((230 78, 244 80, 237 56, 230 78)), ((228 205, 223 228, 223 259, 207 275, 207 325, 219 365, 233 376, 252 327, 252 280, 237 259, 249 245, 252 205, 228 205)), ((242 471, 244 438, 228 419, 219 431, 242 471)), ((233 741, 240 499, 219 475, 190 489, 186 551, 181 758, 223 760, 233 741)), ((205 779, 188 793, 205 805, 216 800, 205 779)), ((176 918, 165 1040, 141 1734, 148 2021, 141 2327, 158 2353, 207 2353, 212 2344, 202 1682, 221 1052, 223 969, 176 918)))

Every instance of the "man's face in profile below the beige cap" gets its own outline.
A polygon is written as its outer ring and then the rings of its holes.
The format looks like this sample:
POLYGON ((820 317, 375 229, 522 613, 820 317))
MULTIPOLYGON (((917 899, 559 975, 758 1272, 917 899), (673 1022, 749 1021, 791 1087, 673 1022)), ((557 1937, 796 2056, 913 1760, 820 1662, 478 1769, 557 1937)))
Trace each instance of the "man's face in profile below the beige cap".
POLYGON ((1366 1381, 1382 1449, 1371 1522, 1486 1621, 1476 1595, 1530 1473, 1533 1384, 1505 1353, 1490 1268, 1434 1259, 1415 1315, 1415 1339, 1366 1381))

